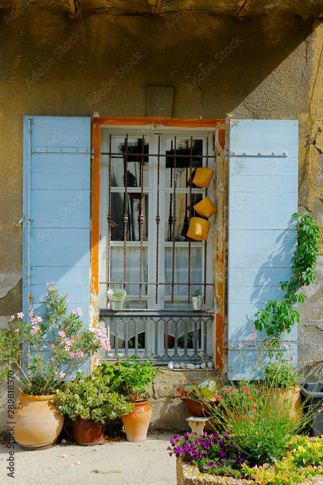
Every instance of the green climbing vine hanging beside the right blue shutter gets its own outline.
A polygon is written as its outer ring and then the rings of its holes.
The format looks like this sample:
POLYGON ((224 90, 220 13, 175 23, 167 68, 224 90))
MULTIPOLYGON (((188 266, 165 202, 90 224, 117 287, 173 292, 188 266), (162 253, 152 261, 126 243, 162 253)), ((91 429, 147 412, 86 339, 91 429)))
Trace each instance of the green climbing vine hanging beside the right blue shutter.
POLYGON ((304 303, 304 291, 298 292, 301 286, 308 286, 315 281, 317 257, 321 241, 319 226, 308 215, 293 214, 297 217, 298 244, 292 258, 292 278, 281 281, 280 288, 285 292, 281 301, 269 300, 264 309, 256 313, 255 328, 265 329, 274 343, 284 332, 290 333, 292 326, 300 321, 296 304, 304 303))

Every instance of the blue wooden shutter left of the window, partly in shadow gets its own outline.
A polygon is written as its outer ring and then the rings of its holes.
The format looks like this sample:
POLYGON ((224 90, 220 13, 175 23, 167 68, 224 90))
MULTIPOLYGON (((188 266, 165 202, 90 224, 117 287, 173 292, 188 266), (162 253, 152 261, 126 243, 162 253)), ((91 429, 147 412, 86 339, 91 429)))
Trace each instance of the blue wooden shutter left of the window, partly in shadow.
POLYGON ((30 295, 32 308, 43 313, 46 282, 54 281, 61 294, 69 293, 68 311, 82 308, 89 325, 90 146, 88 117, 24 117, 25 316, 30 295))

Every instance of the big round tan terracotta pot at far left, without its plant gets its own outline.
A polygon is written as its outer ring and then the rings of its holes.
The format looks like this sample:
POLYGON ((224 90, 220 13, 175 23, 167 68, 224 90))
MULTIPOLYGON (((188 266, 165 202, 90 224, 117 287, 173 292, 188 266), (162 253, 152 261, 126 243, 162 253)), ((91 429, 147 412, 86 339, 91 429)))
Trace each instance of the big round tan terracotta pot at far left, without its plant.
POLYGON ((15 403, 14 438, 24 450, 49 448, 61 433, 64 416, 55 406, 53 397, 19 392, 19 400, 15 403))

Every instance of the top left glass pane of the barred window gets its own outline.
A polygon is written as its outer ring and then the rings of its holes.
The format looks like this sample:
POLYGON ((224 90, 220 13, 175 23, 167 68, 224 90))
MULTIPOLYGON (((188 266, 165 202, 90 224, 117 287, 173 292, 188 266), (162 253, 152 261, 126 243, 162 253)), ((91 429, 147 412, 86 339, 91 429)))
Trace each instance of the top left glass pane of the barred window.
MULTIPOLYGON (((112 138, 111 187, 124 187, 125 138, 112 138)), ((128 138, 127 187, 141 187, 142 138, 128 138)), ((145 140, 144 152, 149 153, 149 142, 145 140)), ((143 158, 143 186, 148 187, 148 156, 143 158)))

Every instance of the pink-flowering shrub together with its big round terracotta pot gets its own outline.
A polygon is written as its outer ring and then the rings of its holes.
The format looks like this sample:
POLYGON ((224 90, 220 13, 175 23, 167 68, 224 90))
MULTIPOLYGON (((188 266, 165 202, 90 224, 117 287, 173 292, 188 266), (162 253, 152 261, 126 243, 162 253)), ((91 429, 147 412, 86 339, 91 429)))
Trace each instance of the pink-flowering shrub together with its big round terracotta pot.
POLYGON ((26 450, 56 442, 64 420, 53 402, 56 389, 89 355, 110 348, 105 328, 84 329, 81 308, 67 315, 68 295, 60 296, 53 281, 47 286, 43 317, 31 309, 24 322, 19 312, 0 332, 0 383, 6 380, 9 390, 14 384, 19 389, 15 406, 8 402, 12 409, 8 421, 15 421, 15 441, 26 450), (25 356, 27 368, 22 364, 25 356))

